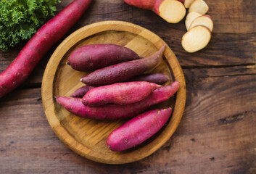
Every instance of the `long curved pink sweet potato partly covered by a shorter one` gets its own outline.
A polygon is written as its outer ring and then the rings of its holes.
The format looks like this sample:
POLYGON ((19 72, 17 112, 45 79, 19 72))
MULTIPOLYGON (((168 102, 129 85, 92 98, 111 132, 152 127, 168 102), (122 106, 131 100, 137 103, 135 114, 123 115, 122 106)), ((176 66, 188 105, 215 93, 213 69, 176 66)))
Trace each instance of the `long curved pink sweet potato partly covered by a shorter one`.
POLYGON ((155 89, 148 97, 146 97, 146 99, 128 105, 105 104, 101 107, 87 107, 82 103, 82 99, 78 98, 57 96, 56 100, 69 112, 80 117, 94 118, 98 120, 128 118, 138 115, 154 104, 159 104, 162 101, 168 100, 170 96, 173 96, 173 94, 178 91, 178 87, 178 81, 173 82, 170 86, 162 86, 155 89))

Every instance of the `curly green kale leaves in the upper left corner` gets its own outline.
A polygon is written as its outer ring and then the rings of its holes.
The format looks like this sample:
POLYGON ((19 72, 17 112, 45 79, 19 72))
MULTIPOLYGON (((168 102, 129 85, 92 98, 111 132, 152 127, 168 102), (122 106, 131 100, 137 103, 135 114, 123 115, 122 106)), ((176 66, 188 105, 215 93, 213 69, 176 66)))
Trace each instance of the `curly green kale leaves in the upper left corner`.
POLYGON ((7 51, 21 40, 31 38, 51 16, 59 0, 1 0, 0 49, 7 51))

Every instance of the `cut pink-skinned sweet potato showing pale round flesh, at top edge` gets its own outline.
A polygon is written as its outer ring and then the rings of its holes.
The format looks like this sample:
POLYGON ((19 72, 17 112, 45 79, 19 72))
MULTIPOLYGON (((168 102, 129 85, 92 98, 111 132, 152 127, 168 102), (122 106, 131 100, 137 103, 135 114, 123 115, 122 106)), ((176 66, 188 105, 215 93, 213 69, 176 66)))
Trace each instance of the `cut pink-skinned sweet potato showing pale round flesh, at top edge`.
POLYGON ((181 1, 176 0, 124 0, 127 4, 149 9, 170 23, 180 22, 186 15, 186 8, 181 1))

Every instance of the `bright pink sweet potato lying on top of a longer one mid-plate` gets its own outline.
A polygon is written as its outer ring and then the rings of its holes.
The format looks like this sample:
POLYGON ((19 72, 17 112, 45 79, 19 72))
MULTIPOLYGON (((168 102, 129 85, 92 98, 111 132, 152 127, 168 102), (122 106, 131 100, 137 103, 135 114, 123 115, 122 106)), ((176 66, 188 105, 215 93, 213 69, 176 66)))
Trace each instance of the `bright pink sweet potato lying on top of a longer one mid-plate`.
POLYGON ((93 88, 83 96, 83 104, 98 107, 103 104, 132 104, 145 99, 160 85, 149 82, 125 82, 93 88))

